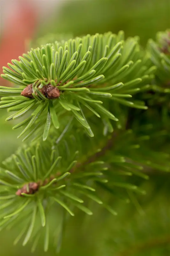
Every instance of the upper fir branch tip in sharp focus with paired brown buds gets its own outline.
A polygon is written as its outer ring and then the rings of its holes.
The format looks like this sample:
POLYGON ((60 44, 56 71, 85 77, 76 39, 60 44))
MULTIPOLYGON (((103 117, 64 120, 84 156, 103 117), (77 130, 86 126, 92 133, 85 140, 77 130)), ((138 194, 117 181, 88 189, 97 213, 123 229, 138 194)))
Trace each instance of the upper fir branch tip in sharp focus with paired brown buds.
POLYGON ((124 34, 120 31, 117 36, 112 33, 87 35, 68 42, 46 44, 23 54, 20 61, 12 60, 10 68, 4 67, 1 76, 19 85, 0 88, 3 96, 0 108, 17 110, 7 121, 32 110, 32 115, 13 127, 24 126, 18 137, 26 132, 29 132, 28 136, 32 135, 44 125, 43 140, 46 140, 50 124, 58 129, 59 116, 68 115, 68 111, 93 137, 84 115, 85 108, 107 122, 110 131, 113 128, 109 119, 119 121, 121 117, 116 110, 112 114, 108 105, 119 103, 147 109, 143 102, 128 98, 148 87, 155 66, 147 68, 148 58, 140 51, 138 37, 123 40, 124 34))

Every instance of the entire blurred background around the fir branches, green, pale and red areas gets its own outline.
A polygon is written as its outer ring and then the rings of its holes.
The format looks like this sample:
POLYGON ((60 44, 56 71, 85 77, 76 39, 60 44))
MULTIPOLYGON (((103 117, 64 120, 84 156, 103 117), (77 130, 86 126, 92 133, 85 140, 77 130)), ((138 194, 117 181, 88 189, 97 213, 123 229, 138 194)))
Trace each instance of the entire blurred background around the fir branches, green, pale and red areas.
MULTIPOLYGON (((117 33, 140 36, 145 47, 157 31, 170 28, 169 0, 0 0, 0 72, 11 59, 18 59, 31 46, 48 43, 67 35, 117 33)), ((0 85, 8 85, 0 79, 0 85)), ((0 161, 17 149, 20 140, 13 124, 0 113, 0 161)), ((125 204, 115 200, 117 217, 99 211, 85 219, 70 220, 61 256, 169 256, 170 204, 167 174, 155 174, 140 185, 146 196, 125 204), (97 216, 97 217, 96 217, 97 216), (83 228, 80 228, 82 227, 83 228)), ((135 180, 134 180, 135 182, 135 180)), ((142 181, 140 181, 142 182, 142 181)), ((55 223, 57 213, 51 221, 55 223)), ((32 255, 29 245, 12 246, 17 228, 0 233, 0 255, 32 255)), ((41 241, 43 243, 43 241, 41 241)), ((51 241, 53 243, 53 241, 51 241)), ((42 247, 42 246, 41 246, 42 247)), ((53 250, 34 255, 55 255, 53 250)))

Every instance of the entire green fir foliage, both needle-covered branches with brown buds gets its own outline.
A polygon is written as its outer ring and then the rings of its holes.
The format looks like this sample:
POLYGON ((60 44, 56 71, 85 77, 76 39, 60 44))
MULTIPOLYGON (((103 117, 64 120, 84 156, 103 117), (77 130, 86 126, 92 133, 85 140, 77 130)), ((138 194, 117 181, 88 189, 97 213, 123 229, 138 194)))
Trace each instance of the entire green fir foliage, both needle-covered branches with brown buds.
POLYGON ((169 92, 166 36, 159 33, 146 50, 122 31, 76 37, 31 49, 3 67, 1 76, 15 87, 0 86, 0 108, 12 112, 6 121, 24 128, 18 138, 27 140, 0 169, 0 230, 23 223, 14 244, 32 242, 34 251, 44 236, 46 252, 54 234, 59 252, 76 209, 92 215, 94 202, 117 215, 112 198, 140 209, 134 195, 145 191, 131 176, 147 180, 153 170, 170 171, 162 150, 167 131, 155 124, 162 116, 153 106, 169 92))

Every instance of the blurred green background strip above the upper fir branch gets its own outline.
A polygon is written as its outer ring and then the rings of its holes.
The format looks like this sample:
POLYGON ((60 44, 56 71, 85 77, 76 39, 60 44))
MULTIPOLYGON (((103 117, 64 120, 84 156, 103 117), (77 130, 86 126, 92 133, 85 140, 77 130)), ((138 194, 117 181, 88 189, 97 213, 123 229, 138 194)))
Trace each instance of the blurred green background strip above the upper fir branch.
POLYGON ((169 0, 80 0, 59 1, 57 15, 42 21, 38 36, 46 33, 85 34, 117 33, 140 36, 141 43, 154 38, 157 31, 170 26, 169 0))

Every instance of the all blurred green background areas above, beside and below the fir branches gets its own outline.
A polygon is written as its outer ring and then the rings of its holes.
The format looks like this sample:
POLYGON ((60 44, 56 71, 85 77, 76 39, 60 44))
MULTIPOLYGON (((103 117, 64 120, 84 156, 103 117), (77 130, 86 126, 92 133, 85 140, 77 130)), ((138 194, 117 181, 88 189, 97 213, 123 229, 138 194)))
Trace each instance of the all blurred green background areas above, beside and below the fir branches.
MULTIPOLYGON (((39 1, 41 4, 41 1, 39 1)), ((145 46, 157 31, 170 27, 169 0, 80 0, 59 1, 56 13, 47 13, 48 20, 42 19, 35 34, 37 39, 49 33, 84 34, 117 33, 124 30, 127 36, 140 36, 145 46)), ((47 38, 46 38, 47 39, 47 38)), ((56 36, 57 39, 57 36, 56 36)), ((50 39, 49 39, 50 40, 50 39)), ((48 41, 48 39, 47 39, 48 41)), ((20 141, 15 139, 17 132, 13 124, 6 123, 0 116, 0 160, 14 152, 20 141)), ((167 174, 152 176, 150 181, 141 182, 147 195, 139 197, 142 208, 137 202, 125 204, 120 200, 113 203, 117 217, 94 208, 89 219, 84 215, 69 222, 61 256, 169 256, 170 255, 170 207, 167 174), (166 181, 165 181, 166 180, 166 181), (136 205, 136 207, 135 207, 136 205), (83 224, 82 224, 83 223, 83 224), (83 227, 82 227, 83 225, 83 227)), ((57 213, 51 218, 55 224, 57 213)), ((5 230, 0 234, 0 255, 32 255, 29 245, 12 246, 17 228, 5 230)), ((41 241, 43 243, 43 241, 41 241)), ((53 243, 53 241, 51 242, 53 243)), ((42 246, 41 246, 42 248, 42 246)), ((44 253, 42 249, 34 255, 55 255, 54 251, 44 253)))

